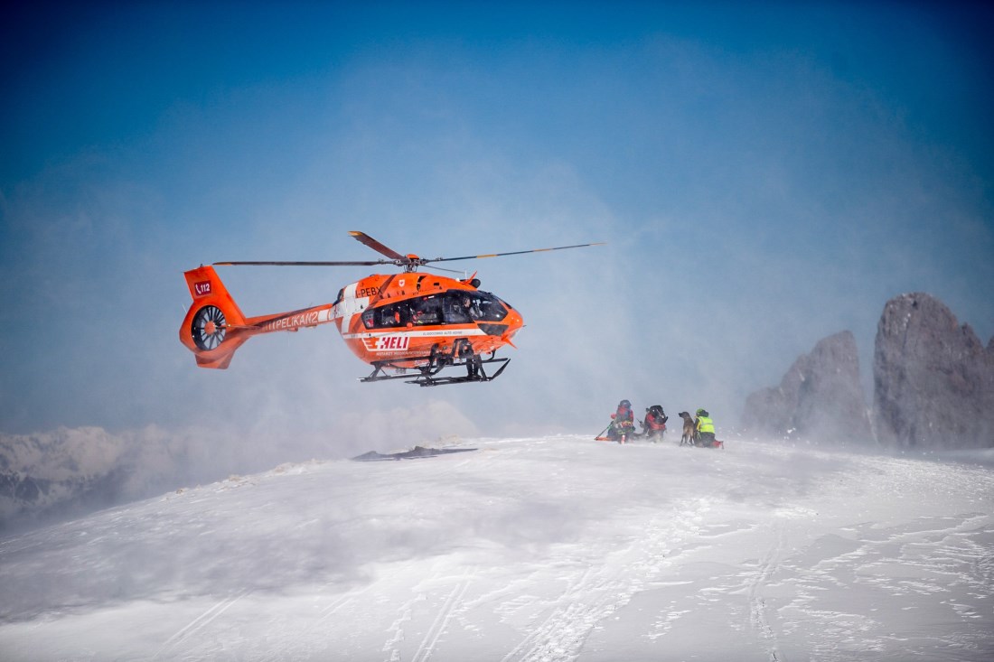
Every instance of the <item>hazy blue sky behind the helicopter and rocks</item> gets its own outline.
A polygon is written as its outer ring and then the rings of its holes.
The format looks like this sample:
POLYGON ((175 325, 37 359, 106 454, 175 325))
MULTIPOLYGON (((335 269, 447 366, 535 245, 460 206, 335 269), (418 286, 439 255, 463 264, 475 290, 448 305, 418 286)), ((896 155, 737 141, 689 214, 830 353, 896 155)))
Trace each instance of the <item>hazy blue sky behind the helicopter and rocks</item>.
MULTIPOLYGON (((194 424, 334 445, 432 412, 412 426, 592 433, 622 398, 706 407, 721 427, 843 329, 869 388, 877 321, 903 292, 937 296, 986 343, 992 16, 22 10, 0 29, 0 431, 194 424), (350 230, 429 256, 608 245, 467 266, 528 325, 492 384, 358 384, 367 368, 330 327, 252 340, 227 372, 195 368, 177 339, 183 270, 374 257, 350 230)), ((261 314, 330 301, 366 272, 222 277, 261 314)))

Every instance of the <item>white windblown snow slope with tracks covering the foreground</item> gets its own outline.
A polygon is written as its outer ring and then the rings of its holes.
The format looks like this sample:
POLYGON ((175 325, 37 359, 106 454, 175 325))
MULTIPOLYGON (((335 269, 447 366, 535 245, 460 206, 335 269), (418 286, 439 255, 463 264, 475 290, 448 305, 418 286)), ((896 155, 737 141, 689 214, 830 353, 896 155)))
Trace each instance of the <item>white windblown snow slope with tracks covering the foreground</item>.
POLYGON ((0 539, 15 660, 990 660, 994 469, 479 439, 0 539))

